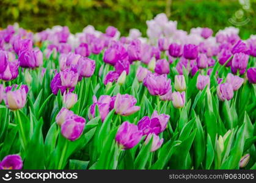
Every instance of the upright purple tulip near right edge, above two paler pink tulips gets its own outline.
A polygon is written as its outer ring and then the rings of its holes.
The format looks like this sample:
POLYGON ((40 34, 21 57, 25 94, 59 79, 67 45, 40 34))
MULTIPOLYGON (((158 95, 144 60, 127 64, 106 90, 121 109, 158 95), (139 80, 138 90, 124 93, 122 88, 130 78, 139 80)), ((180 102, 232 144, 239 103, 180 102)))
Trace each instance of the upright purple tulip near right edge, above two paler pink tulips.
POLYGON ((239 70, 240 74, 244 74, 247 68, 248 60, 249 56, 243 52, 234 54, 231 65, 232 73, 236 74, 237 70, 239 70))

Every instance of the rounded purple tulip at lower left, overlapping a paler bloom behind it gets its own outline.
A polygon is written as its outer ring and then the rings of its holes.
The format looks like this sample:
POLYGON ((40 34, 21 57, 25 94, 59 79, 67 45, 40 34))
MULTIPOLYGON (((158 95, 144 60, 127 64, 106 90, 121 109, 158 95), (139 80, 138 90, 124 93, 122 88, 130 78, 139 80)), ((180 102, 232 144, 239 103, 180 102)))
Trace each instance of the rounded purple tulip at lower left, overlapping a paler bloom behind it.
POLYGON ((86 120, 78 115, 72 115, 61 125, 61 134, 70 141, 75 141, 82 135, 86 120))

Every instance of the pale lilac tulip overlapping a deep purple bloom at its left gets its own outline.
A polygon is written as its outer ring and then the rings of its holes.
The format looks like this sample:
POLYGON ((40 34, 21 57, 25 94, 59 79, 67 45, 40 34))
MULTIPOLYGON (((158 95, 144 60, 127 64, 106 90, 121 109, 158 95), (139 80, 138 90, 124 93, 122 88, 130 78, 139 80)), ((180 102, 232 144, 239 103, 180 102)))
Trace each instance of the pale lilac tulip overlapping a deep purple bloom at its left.
POLYGON ((78 73, 71 69, 60 71, 60 80, 63 87, 73 88, 78 84, 78 73))

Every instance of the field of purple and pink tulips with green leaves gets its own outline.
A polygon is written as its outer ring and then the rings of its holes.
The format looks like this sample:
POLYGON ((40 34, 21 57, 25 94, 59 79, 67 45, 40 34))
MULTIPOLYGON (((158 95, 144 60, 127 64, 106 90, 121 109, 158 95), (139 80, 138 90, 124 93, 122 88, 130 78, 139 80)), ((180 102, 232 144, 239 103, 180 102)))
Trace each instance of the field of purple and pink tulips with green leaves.
POLYGON ((256 169, 256 35, 0 30, 0 169, 256 169))

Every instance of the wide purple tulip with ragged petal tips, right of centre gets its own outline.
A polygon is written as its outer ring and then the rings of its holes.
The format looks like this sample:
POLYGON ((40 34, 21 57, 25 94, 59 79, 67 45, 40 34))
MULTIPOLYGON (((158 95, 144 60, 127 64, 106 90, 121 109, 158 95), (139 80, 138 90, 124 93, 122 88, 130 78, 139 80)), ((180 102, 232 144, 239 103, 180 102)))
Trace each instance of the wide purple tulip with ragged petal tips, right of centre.
POLYGON ((144 79, 144 85, 151 95, 165 95, 170 90, 170 79, 167 79, 166 74, 148 74, 144 79))

